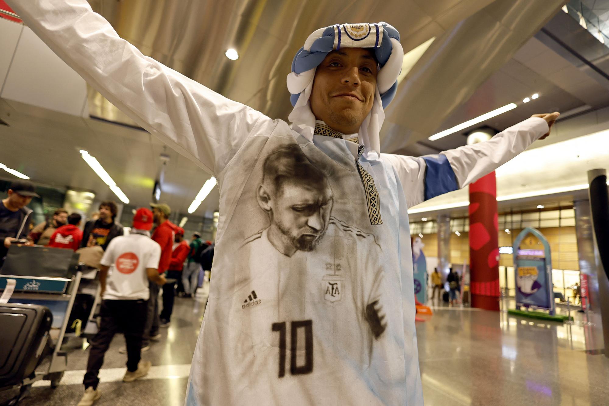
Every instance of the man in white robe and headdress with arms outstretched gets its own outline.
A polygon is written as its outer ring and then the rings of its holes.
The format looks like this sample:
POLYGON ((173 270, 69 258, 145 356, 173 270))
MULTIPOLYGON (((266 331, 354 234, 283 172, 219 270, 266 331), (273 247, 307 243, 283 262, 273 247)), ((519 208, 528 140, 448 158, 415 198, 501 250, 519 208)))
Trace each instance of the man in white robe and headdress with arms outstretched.
POLYGON ((389 24, 309 35, 287 77, 288 124, 144 56, 85 0, 7 2, 105 98, 216 176, 216 277, 186 404, 423 404, 407 210, 495 170, 558 113, 438 155, 383 154, 403 62, 389 24), (266 179, 278 151, 312 180, 266 179))

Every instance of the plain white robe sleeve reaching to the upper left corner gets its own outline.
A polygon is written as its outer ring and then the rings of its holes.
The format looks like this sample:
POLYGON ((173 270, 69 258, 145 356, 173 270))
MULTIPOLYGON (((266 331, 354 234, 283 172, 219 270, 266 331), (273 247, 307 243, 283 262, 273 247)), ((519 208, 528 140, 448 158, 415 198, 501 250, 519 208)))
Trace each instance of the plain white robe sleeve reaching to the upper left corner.
POLYGON ((143 55, 85 0, 7 3, 118 109, 212 174, 270 118, 143 55))

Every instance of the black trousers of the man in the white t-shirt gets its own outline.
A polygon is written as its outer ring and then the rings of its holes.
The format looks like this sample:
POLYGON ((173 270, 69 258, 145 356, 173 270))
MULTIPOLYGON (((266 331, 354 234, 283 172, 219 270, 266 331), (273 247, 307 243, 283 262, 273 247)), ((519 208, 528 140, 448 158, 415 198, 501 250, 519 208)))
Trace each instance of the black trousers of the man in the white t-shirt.
POLYGON ((102 301, 99 332, 93 337, 89 347, 89 360, 83 379, 85 389, 97 389, 99 369, 104 365, 104 354, 118 331, 122 331, 127 342, 127 371, 136 371, 141 357, 142 336, 146 323, 147 301, 102 301))

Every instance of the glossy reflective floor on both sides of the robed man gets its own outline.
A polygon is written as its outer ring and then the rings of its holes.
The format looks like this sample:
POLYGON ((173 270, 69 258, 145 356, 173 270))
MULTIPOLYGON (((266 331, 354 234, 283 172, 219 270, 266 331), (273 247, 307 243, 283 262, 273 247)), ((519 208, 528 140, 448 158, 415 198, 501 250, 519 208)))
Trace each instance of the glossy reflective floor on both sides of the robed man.
MULTIPOLYGON (((205 293, 176 299, 172 324, 144 358, 153 368, 146 379, 121 382, 124 340, 117 336, 100 374, 96 405, 183 405, 205 293)), ((503 312, 434 308, 417 322, 425 404, 434 405, 609 405, 609 359, 589 355, 599 347, 597 326, 530 321, 503 312)), ((602 341, 601 341, 602 343, 602 341)), ((76 405, 88 351, 72 340, 68 369, 55 390, 40 382, 23 405, 76 405)))

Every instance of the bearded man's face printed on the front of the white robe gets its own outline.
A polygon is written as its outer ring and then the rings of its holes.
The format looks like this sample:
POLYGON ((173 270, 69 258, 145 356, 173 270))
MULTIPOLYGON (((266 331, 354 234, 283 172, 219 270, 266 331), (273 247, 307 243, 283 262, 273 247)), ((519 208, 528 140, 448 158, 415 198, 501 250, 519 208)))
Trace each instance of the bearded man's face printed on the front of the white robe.
POLYGON ((328 229, 333 194, 328 183, 288 180, 270 200, 272 223, 300 251, 312 251, 328 229))

